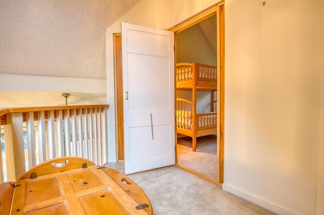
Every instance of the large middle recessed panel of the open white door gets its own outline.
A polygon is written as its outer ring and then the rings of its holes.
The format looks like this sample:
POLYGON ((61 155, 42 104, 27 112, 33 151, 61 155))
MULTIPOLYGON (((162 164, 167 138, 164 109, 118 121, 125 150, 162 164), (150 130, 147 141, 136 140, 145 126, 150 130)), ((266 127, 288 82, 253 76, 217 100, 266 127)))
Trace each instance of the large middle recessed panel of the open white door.
POLYGON ((158 56, 128 55, 129 112, 170 110, 170 63, 158 56), (158 67, 156 65, 159 65, 158 67), (136 81, 133 81, 136 80, 136 81), (164 84, 168 84, 167 87, 164 84), (136 101, 141 102, 136 102, 136 101))

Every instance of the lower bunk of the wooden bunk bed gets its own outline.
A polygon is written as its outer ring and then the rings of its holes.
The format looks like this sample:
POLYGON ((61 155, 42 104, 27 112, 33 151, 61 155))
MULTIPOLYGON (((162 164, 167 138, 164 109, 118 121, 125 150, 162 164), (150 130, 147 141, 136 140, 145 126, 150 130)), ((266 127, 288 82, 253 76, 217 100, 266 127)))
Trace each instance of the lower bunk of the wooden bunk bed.
POLYGON ((192 101, 177 98, 177 133, 192 137, 192 151, 196 151, 197 137, 217 133, 217 112, 195 113, 192 101))

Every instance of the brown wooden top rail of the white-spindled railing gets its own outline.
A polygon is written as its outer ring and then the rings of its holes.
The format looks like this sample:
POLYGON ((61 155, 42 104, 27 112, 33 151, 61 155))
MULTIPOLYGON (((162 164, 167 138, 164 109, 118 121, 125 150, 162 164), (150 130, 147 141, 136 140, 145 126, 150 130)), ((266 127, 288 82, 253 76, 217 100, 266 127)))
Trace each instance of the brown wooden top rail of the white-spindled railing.
POLYGON ((90 104, 90 105, 66 105, 66 106, 41 106, 41 107, 26 107, 26 108, 8 108, 1 109, 0 116, 8 113, 25 113, 38 111, 58 111, 70 109, 88 109, 88 108, 109 108, 109 104, 90 104))

